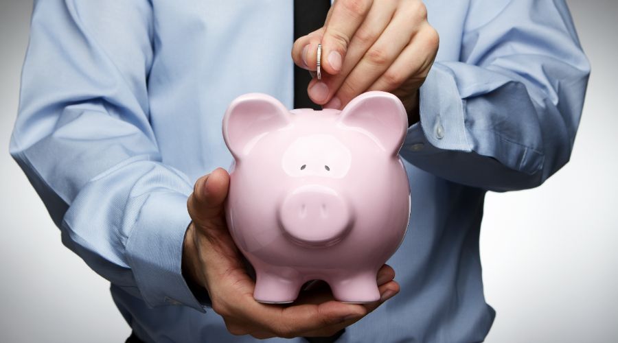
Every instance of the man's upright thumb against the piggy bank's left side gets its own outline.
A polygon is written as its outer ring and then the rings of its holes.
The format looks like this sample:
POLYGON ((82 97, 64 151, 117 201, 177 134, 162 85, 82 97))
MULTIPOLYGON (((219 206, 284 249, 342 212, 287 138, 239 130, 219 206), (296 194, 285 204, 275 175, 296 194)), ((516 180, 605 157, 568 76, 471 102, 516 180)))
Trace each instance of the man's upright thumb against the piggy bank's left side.
POLYGON ((224 210, 225 198, 229 189, 229 174, 222 168, 202 176, 195 182, 193 193, 188 200, 189 213, 197 224, 219 218, 224 210))

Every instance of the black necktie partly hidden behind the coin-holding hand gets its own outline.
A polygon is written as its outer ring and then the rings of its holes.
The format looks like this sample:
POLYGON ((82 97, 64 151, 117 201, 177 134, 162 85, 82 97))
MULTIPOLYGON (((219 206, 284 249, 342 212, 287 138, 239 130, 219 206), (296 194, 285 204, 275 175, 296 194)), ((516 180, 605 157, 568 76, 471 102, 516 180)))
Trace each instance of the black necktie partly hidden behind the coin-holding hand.
MULTIPOLYGON (((330 0, 294 0, 294 40, 322 27, 329 8, 330 0)), ((322 109, 307 95, 307 85, 310 81, 309 72, 295 65, 294 108, 322 109)))

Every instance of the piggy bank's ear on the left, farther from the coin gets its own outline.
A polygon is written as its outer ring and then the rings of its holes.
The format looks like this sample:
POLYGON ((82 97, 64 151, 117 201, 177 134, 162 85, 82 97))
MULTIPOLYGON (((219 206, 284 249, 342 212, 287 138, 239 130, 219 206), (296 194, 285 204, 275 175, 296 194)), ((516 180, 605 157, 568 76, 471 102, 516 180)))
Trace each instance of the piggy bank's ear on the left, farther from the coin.
POLYGON ((223 117, 223 139, 238 159, 260 134, 287 126, 288 110, 279 100, 266 94, 250 93, 234 99, 223 117))

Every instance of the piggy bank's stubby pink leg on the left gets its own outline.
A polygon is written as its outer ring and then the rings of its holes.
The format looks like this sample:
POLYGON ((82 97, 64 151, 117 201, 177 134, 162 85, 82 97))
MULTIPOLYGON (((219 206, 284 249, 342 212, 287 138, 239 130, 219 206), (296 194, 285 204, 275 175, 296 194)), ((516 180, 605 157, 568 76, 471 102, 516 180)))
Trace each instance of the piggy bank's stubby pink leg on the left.
POLYGON ((255 290, 253 298, 260 303, 284 304, 296 300, 301 279, 295 276, 287 276, 286 273, 256 272, 255 290))

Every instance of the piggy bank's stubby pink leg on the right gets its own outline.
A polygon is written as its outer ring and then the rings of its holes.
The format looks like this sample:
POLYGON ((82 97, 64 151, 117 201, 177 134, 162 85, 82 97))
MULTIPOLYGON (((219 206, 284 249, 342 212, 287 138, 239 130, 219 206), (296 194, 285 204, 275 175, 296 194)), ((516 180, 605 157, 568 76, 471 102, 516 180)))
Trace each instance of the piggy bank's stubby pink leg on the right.
POLYGON ((336 300, 343 303, 373 303, 380 300, 376 281, 377 272, 361 272, 342 279, 333 279, 328 284, 336 300))

